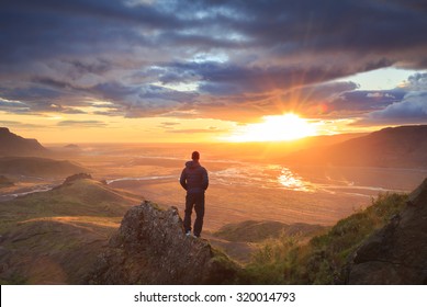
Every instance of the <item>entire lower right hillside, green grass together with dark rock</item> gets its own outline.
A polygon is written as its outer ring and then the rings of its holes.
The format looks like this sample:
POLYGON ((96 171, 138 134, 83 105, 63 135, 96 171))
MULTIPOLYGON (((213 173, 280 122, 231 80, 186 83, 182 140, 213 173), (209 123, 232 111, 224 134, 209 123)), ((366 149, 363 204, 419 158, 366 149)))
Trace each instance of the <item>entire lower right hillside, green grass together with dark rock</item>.
POLYGON ((308 243, 267 241, 246 266, 250 284, 426 284, 427 179, 409 195, 382 194, 308 243))

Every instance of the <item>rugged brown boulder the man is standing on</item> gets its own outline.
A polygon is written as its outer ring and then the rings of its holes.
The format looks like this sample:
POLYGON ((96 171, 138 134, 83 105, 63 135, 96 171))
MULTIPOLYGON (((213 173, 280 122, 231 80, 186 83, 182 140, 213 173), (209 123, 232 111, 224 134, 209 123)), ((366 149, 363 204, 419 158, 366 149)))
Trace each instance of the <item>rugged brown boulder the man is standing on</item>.
POLYGON ((203 239, 187 237, 176 207, 150 202, 131 208, 89 284, 226 284, 237 266, 203 239))

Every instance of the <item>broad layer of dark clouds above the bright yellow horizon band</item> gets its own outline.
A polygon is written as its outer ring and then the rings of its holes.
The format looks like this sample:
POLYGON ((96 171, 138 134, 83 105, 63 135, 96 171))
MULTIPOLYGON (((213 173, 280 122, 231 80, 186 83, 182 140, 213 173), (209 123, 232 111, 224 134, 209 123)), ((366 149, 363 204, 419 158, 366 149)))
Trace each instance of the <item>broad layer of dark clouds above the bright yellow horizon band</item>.
POLYGON ((0 29, 0 110, 10 113, 93 106, 111 116, 229 118, 241 109, 272 114, 294 96, 303 113, 316 100, 328 112, 389 113, 425 87, 425 75, 405 93, 330 81, 427 68, 422 1, 5 0, 0 29))

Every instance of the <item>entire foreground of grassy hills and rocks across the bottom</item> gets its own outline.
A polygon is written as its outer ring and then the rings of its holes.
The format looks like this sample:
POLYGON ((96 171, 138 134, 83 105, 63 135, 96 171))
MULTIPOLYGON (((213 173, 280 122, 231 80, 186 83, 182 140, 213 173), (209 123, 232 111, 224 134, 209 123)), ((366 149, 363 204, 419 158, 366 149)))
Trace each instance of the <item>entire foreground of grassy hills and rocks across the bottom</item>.
POLYGON ((426 195, 427 180, 332 228, 249 220, 209 235, 211 243, 183 234, 176 207, 135 206, 141 197, 74 175, 0 203, 0 283, 424 284, 426 195), (250 247, 250 262, 231 261, 213 248, 220 241, 227 253, 250 247))

